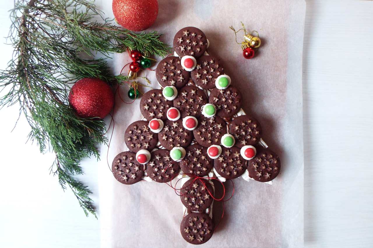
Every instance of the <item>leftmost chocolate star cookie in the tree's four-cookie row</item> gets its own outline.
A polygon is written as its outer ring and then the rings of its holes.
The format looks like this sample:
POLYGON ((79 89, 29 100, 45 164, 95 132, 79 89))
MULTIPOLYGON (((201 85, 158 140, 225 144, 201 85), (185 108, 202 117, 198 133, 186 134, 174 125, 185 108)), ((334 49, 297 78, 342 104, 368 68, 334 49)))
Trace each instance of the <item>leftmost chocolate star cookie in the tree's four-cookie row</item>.
POLYGON ((141 149, 151 151, 156 147, 158 136, 150 131, 148 124, 148 121, 135 121, 127 127, 124 141, 131 152, 138 152, 141 149))

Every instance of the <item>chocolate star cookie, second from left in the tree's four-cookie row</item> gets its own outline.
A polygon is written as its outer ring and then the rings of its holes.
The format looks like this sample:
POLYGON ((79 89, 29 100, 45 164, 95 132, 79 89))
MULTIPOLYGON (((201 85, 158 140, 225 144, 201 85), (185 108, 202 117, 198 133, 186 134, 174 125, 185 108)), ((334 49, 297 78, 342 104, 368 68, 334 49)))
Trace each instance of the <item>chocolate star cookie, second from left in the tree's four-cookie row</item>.
POLYGON ((175 146, 187 147, 192 139, 192 131, 183 127, 181 119, 177 121, 167 120, 164 122, 162 131, 158 133, 158 139, 161 145, 167 150, 175 146))

